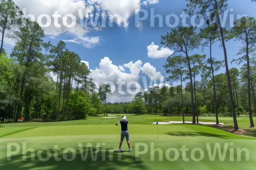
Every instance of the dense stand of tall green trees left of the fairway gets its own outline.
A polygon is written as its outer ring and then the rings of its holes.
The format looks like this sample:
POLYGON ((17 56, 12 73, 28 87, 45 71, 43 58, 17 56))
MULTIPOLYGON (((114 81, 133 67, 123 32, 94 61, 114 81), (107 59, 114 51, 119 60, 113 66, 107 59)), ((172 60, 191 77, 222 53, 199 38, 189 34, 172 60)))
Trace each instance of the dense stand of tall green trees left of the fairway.
POLYGON ((1 0, 0 31, 0 118, 8 122, 63 121, 104 113, 109 85, 99 93, 88 77, 88 66, 66 44, 44 42, 44 30, 22 14, 12 0, 1 0), (8 56, 3 49, 4 33, 15 40, 8 56), (43 53, 44 51, 44 53, 43 53), (57 75, 54 82, 50 74, 57 75), (78 82, 73 85, 73 82, 78 82))

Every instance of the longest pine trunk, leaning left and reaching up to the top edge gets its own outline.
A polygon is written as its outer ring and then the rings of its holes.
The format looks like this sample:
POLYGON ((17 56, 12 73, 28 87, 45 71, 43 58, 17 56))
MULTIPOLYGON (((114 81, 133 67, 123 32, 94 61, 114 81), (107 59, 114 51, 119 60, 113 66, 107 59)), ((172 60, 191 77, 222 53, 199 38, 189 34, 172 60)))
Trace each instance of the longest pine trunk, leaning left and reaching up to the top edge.
MULTIPOLYGON (((215 4, 216 4, 216 7, 217 7, 217 2, 215 4)), ((238 130, 239 127, 238 127, 237 120, 236 120, 236 112, 235 112, 235 106, 234 106, 233 96, 232 96, 232 88, 231 88, 231 83, 230 83, 230 74, 229 74, 229 70, 228 70, 227 50, 226 50, 224 34, 223 34, 222 26, 221 26, 220 16, 217 15, 217 17, 218 17, 218 24, 219 24, 219 28, 220 28, 220 32, 221 32, 222 47, 223 47, 223 51, 224 51, 224 59, 225 59, 226 74, 227 74, 227 84, 228 84, 228 90, 229 90, 229 96, 230 96, 230 105, 231 105, 233 121, 234 121, 234 128, 236 130, 238 130)))

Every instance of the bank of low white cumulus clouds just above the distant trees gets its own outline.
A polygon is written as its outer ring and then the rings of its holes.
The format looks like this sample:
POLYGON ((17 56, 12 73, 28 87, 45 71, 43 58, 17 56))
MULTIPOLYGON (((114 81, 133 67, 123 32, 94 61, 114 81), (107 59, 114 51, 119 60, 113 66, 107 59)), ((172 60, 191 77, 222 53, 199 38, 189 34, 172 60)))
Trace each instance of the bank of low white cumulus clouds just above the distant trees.
MULTIPOLYGON (((84 62, 89 67, 89 62, 84 62)), ((156 79, 161 78, 161 73, 156 71, 156 68, 150 65, 150 63, 145 63, 142 67, 142 62, 138 60, 137 62, 129 62, 122 65, 114 65, 109 57, 104 57, 99 62, 99 68, 90 69, 91 73, 89 77, 93 79, 97 88, 102 84, 110 84, 112 94, 108 95, 107 102, 128 102, 131 101, 138 92, 144 93, 147 91, 148 86, 156 86, 158 83, 155 80, 151 81, 148 85, 147 82, 143 82, 144 87, 139 84, 139 79, 141 71, 147 74, 148 77, 155 77, 156 79), (125 71, 126 68, 126 72, 125 71), (145 89, 144 89, 145 88, 145 89)), ((50 76, 57 80, 57 75, 52 72, 49 73, 50 76)), ((144 80, 143 80, 144 81, 144 80)), ((73 81, 73 88, 76 88, 77 83, 73 81)), ((160 80, 158 85, 160 88, 168 86, 168 84, 163 83, 160 80)))

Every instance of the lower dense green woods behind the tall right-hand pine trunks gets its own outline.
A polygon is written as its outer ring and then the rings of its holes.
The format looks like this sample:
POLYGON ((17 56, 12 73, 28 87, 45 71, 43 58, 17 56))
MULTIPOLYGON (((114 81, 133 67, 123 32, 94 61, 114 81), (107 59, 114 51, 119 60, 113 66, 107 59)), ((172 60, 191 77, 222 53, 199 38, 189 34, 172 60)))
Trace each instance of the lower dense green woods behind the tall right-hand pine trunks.
MULTIPOLYGON (((254 58, 253 58, 254 60, 254 58)), ((237 68, 231 68, 230 77, 232 78, 233 102, 235 104, 236 115, 249 115, 248 96, 247 96, 247 79, 246 79, 246 64, 244 64, 239 71, 237 68)), ((256 113, 256 65, 251 66, 251 95, 253 96, 252 111, 256 113)), ((230 116, 230 98, 228 95, 227 75, 215 75, 215 90, 217 100, 217 111, 219 116, 230 116)), ((201 76, 200 81, 195 81, 195 91, 197 100, 197 113, 199 115, 213 115, 215 113, 215 100, 212 85, 212 77, 207 74, 201 76)), ((190 115, 191 111, 191 96, 190 84, 183 86, 183 94, 181 96, 181 86, 177 87, 163 87, 148 88, 148 91, 138 93, 135 98, 142 98, 145 105, 145 113, 149 114, 165 114, 177 115, 182 114, 182 96, 183 109, 185 115, 190 115)), ((134 101, 135 101, 134 98, 134 101)))

